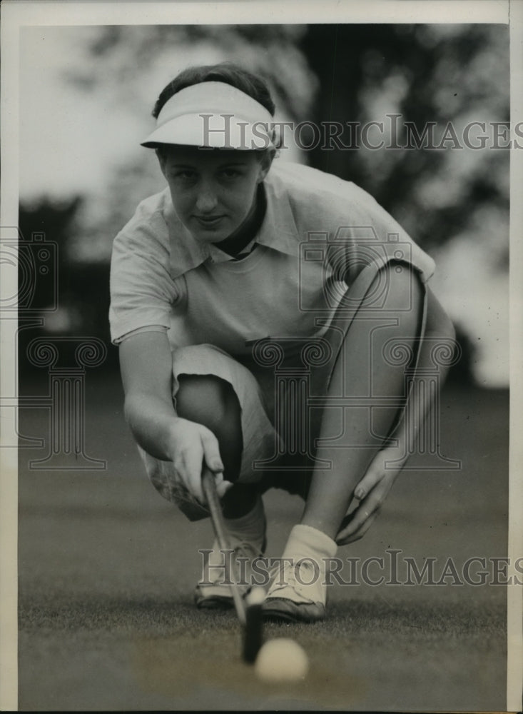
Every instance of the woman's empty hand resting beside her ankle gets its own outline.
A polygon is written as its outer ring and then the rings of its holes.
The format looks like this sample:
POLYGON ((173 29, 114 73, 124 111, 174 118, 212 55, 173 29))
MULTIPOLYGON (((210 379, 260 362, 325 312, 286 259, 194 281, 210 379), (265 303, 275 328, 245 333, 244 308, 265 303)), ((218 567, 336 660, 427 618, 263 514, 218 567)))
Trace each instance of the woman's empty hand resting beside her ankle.
POLYGON ((354 498, 359 506, 342 521, 336 536, 337 545, 347 545, 360 540, 369 530, 380 513, 380 508, 387 498, 397 475, 407 461, 402 458, 404 452, 397 446, 389 446, 378 451, 372 459, 365 476, 354 489, 354 498), (394 466, 385 468, 385 462, 395 461, 394 466))

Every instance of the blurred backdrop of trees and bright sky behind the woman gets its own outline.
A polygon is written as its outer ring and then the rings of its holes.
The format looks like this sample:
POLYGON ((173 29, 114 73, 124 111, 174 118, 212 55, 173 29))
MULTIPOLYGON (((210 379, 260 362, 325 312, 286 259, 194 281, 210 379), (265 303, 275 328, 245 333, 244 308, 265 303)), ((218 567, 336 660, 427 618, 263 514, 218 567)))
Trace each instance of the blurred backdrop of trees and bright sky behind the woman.
MULTIPOLYGON (((139 146, 163 86, 191 64, 237 61, 264 74, 276 119, 435 122, 509 119, 508 29, 489 24, 27 27, 21 31, 20 228, 59 245, 59 309, 36 333, 108 343, 111 243, 138 201, 163 188, 139 146)), ((400 132, 400 144, 404 139, 400 132)), ((348 140, 345 141, 348 143, 348 140)), ((437 261, 455 321, 453 376, 508 383, 509 152, 298 151, 370 191, 437 261)), ((37 286, 38 288, 38 286, 37 286)), ((45 307, 36 290, 34 303, 45 307)), ((116 366, 111 349, 108 367, 116 366)), ((22 361, 21 367, 24 367, 22 361)))

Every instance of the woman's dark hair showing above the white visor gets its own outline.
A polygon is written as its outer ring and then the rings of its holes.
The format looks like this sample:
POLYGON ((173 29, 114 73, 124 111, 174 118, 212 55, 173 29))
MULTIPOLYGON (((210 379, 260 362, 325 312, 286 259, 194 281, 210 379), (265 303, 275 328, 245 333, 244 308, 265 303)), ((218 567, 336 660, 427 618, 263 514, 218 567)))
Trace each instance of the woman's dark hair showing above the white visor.
POLYGON ((153 117, 155 119, 158 118, 163 105, 176 92, 193 84, 200 84, 200 82, 224 82, 225 84, 230 84, 230 86, 243 91, 244 94, 248 94, 248 96, 265 106, 265 109, 274 116, 275 104, 265 81, 246 69, 233 64, 233 62, 220 62, 220 64, 188 67, 188 69, 180 72, 162 89, 154 105, 153 117))

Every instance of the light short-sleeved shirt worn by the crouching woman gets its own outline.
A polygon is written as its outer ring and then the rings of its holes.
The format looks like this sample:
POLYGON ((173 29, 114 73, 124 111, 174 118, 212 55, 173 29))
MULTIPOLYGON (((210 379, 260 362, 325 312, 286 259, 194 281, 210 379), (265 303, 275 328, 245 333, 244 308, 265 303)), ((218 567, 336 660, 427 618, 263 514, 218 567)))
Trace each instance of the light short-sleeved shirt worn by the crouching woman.
POLYGON ((264 189, 255 249, 240 261, 191 236, 168 188, 140 203, 113 244, 113 343, 154 328, 168 331, 173 348, 210 343, 241 356, 261 338, 318 336, 367 266, 406 262, 424 282, 434 271, 432 258, 353 183, 275 161, 264 189))

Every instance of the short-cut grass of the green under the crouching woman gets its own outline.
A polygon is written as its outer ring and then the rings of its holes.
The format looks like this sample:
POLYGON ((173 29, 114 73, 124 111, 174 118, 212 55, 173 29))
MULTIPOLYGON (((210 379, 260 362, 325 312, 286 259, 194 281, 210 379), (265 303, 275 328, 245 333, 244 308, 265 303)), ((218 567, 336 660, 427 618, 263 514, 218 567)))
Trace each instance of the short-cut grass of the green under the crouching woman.
MULTIPOLYGON (((192 603, 207 522, 188 523, 141 471, 116 381, 89 383, 86 450, 106 471, 27 468, 19 507, 19 707, 23 710, 502 710, 502 587, 332 588, 327 620, 268 623, 310 658, 300 685, 256 680, 240 661, 232 612, 192 603)), ((506 553, 507 395, 446 391, 442 446, 459 473, 402 474, 370 533, 340 555, 422 563, 506 553)), ((46 433, 27 410, 21 431, 46 433)), ((300 501, 266 497, 269 554, 280 555, 300 501)), ((442 567, 442 565, 440 565, 442 567)))

